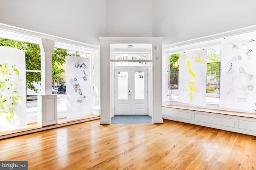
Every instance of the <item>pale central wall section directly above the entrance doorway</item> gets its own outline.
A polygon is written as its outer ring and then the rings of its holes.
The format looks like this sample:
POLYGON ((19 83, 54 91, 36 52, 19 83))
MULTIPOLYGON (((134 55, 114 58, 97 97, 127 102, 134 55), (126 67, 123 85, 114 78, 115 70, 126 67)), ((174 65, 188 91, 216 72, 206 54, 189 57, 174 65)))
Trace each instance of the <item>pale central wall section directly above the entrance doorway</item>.
POLYGON ((107 0, 106 36, 152 37, 152 0, 107 0))

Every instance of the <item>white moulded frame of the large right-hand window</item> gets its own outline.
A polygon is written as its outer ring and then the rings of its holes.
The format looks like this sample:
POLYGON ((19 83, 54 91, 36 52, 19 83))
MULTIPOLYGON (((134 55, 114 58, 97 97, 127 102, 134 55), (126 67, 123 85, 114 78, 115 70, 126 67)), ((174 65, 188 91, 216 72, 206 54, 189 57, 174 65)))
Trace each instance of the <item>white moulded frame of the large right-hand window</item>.
MULTIPOLYGON (((222 33, 217 33, 213 35, 208 35, 205 37, 199 37, 196 39, 190 39, 187 41, 181 41, 178 43, 172 43, 168 45, 163 45, 162 46, 162 57, 163 57, 163 64, 162 64, 162 74, 163 74, 163 86, 162 86, 162 106, 166 105, 178 105, 178 106, 191 106, 191 107, 199 107, 197 105, 192 105, 192 104, 184 104, 178 101, 174 100, 168 100, 167 99, 167 68, 168 68, 168 63, 167 58, 168 54, 170 53, 178 53, 179 51, 184 51, 184 50, 191 50, 191 49, 202 49, 203 47, 210 47, 210 46, 216 46, 220 45, 222 39, 225 37, 232 37, 235 35, 241 35, 244 33, 250 33, 256 31, 256 25, 249 26, 249 27, 243 27, 240 29, 234 29, 231 31, 226 31, 222 33)), ((214 103, 207 103, 206 106, 200 106, 201 108, 207 108, 207 109, 219 109, 219 110, 226 110, 226 111, 241 111, 244 112, 244 110, 241 109, 230 109, 230 108, 223 108, 220 107, 219 104, 214 104, 214 103)))

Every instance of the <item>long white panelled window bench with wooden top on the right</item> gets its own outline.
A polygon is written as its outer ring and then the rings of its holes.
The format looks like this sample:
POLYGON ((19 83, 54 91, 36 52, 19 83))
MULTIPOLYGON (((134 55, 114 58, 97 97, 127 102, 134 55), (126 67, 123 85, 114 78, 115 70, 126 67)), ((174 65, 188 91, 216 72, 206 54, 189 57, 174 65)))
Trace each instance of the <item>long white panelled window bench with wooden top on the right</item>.
POLYGON ((212 127, 256 136, 256 114, 168 105, 162 106, 163 119, 212 127))

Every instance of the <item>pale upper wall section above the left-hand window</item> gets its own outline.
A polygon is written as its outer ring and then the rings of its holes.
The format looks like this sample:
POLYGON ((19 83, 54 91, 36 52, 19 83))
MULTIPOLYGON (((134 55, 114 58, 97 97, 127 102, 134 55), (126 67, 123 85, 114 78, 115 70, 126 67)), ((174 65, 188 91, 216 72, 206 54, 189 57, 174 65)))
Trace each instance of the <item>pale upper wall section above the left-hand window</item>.
POLYGON ((0 0, 0 23, 99 45, 106 0, 0 0))

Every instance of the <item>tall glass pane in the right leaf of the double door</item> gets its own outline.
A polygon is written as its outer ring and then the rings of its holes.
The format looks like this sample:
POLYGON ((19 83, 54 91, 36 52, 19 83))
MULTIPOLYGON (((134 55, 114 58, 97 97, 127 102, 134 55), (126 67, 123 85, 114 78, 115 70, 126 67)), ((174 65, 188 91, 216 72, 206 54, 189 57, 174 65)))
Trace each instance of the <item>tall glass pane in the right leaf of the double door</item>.
POLYGON ((134 98, 144 99, 145 88, 144 88, 144 71, 134 72, 134 98))

